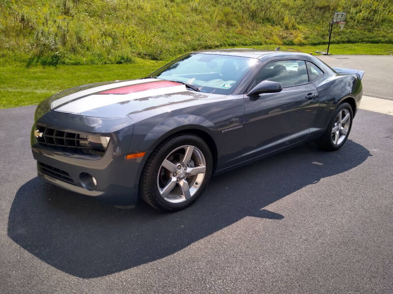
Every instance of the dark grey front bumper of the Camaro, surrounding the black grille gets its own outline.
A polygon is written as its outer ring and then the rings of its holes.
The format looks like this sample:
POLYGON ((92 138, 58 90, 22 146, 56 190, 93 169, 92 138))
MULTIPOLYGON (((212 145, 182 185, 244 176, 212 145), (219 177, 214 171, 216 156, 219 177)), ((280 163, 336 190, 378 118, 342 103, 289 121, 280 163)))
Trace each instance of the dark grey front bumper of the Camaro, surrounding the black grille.
MULTIPOLYGON (((80 116, 78 116, 80 119, 80 116)), ((100 128, 92 126, 88 118, 79 126, 75 123, 75 115, 54 113, 50 111, 37 124, 56 128, 61 131, 76 131, 85 134, 100 134, 111 137, 109 146, 102 156, 80 154, 72 150, 59 150, 39 144, 34 137, 33 126, 31 132, 31 150, 37 160, 38 176, 46 181, 69 191, 94 196, 112 205, 132 205, 138 200, 138 184, 141 172, 142 158, 126 160, 131 142, 133 124, 120 124, 116 130, 115 121, 103 122, 100 128), (52 116, 52 118, 51 118, 52 116), (56 116, 56 125, 53 116, 56 116), (72 116, 72 117, 70 117, 72 116), (45 166, 46 168, 42 168, 45 166), (53 171, 53 172, 48 172, 53 171), (92 175, 97 185, 94 190, 88 190, 83 185, 81 173, 92 175)))

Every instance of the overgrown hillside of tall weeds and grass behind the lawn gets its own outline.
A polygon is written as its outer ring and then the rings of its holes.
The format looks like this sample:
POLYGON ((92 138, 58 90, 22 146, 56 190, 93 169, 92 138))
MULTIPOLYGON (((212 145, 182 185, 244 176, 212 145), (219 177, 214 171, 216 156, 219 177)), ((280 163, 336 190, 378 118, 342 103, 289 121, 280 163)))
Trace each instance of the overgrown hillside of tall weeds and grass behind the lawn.
POLYGON ((28 65, 133 63, 196 49, 393 43, 392 0, 1 0, 0 57, 28 65))

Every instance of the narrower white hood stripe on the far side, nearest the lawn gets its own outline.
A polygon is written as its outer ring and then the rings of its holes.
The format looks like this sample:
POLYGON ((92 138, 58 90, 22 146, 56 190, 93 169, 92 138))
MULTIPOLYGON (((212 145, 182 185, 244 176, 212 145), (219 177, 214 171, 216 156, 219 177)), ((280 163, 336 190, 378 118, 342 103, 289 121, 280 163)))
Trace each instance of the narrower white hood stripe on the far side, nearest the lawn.
POLYGON ((62 98, 52 101, 51 109, 54 109, 54 108, 60 106, 61 104, 67 103, 67 102, 77 99, 79 97, 84 97, 86 95, 94 94, 97 92, 110 90, 110 89, 118 88, 118 87, 142 84, 142 83, 147 83, 147 82, 152 82, 152 81, 159 81, 159 80, 160 79, 157 79, 157 78, 144 78, 144 79, 138 79, 138 80, 125 81, 125 82, 117 82, 117 83, 112 83, 112 84, 108 84, 108 85, 103 85, 103 86, 98 86, 98 87, 82 90, 82 91, 79 91, 79 92, 76 92, 76 93, 73 93, 73 94, 70 94, 70 95, 67 95, 62 98))

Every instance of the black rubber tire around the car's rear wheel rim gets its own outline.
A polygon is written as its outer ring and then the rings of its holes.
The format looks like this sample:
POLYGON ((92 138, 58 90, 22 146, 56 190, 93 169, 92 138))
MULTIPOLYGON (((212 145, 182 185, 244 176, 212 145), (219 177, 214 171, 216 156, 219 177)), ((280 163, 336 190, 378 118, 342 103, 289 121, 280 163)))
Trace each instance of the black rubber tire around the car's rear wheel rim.
POLYGON ((352 127, 352 120, 353 120, 353 112, 352 112, 352 107, 349 103, 341 103, 337 106, 336 110, 333 112, 332 117, 329 121, 328 127, 325 131, 325 133, 322 135, 322 137, 320 137, 316 143, 318 144, 318 146, 321 149, 327 150, 327 151, 335 151, 337 149, 339 149, 341 146, 344 145, 344 143, 346 142, 349 133, 351 131, 351 127, 352 127), (332 130, 333 130, 333 126, 334 123, 336 121, 337 115, 342 111, 342 110, 348 110, 349 114, 350 114, 350 124, 349 124, 349 129, 348 132, 346 134, 345 139, 340 143, 340 144, 334 144, 333 142, 333 138, 332 138, 332 130))

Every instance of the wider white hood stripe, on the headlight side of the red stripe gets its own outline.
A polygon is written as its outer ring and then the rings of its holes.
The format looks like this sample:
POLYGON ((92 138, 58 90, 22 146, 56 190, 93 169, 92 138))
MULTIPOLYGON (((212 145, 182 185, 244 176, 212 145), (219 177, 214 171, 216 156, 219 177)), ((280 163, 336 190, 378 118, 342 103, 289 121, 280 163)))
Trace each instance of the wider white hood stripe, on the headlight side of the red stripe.
POLYGON ((89 111, 92 109, 96 109, 99 107, 111 105, 114 103, 124 102, 135 100, 139 98, 146 98, 150 96, 158 96, 172 93, 179 93, 186 91, 185 85, 171 86, 165 88, 158 88, 146 91, 140 91, 130 94, 99 94, 99 95, 90 95, 84 98, 72 101, 67 103, 59 108, 56 111, 68 112, 73 114, 83 113, 85 111, 89 111))

